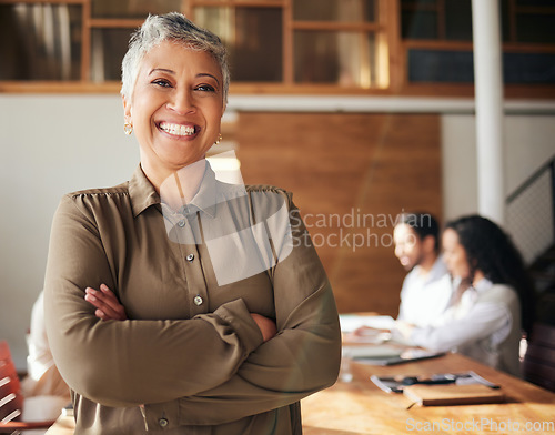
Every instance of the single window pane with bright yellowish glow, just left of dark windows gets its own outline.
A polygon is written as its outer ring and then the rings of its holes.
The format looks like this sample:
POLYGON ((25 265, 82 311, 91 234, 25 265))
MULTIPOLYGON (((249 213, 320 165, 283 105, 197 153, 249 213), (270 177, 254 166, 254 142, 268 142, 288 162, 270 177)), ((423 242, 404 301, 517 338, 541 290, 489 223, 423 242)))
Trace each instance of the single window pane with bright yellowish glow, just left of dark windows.
POLYGON ((294 2, 294 82, 387 87, 387 62, 383 61, 387 42, 379 18, 375 0, 294 2))

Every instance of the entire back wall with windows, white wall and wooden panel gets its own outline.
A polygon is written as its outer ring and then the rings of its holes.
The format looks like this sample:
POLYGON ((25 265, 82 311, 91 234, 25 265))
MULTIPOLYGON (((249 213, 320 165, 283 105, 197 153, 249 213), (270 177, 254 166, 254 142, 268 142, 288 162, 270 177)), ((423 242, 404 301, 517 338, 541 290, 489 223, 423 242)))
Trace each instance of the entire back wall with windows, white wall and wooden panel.
MULTIPOLYGON (((490 0, 483 0, 490 1, 490 0)), ((492 0, 494 1, 494 0, 492 0)), ((504 226, 554 285, 555 1, 501 0, 504 226)), ((62 194, 118 184, 121 59, 182 11, 231 55, 224 141, 245 183, 294 193, 340 312, 396 315, 402 211, 478 212, 471 0, 0 0, 0 338, 24 370, 62 194)))

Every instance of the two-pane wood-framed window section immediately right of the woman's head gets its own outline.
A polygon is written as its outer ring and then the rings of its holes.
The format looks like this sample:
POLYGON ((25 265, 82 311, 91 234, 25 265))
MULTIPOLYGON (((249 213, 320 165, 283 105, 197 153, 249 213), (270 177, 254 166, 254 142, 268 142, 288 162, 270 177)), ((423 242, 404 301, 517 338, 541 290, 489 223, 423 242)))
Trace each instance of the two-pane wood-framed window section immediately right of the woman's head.
POLYGON ((194 20, 231 48, 234 83, 387 85, 386 26, 379 22, 384 0, 194 3, 194 20))

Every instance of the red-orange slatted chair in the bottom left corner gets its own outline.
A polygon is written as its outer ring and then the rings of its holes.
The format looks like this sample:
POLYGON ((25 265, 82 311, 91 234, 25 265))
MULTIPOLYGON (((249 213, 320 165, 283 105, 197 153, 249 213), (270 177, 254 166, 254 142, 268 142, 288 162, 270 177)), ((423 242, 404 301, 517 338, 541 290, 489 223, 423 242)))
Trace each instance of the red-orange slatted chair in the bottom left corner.
POLYGON ((19 434, 23 429, 47 428, 54 421, 21 422, 23 395, 10 348, 0 341, 0 434, 19 434))

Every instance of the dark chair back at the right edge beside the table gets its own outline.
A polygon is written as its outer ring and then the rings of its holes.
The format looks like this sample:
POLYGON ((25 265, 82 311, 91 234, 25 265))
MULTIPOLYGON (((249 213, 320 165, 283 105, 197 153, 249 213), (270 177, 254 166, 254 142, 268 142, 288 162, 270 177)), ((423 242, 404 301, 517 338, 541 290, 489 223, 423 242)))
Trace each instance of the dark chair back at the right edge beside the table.
POLYGON ((523 361, 524 378, 555 392, 555 325, 535 323, 523 361))

